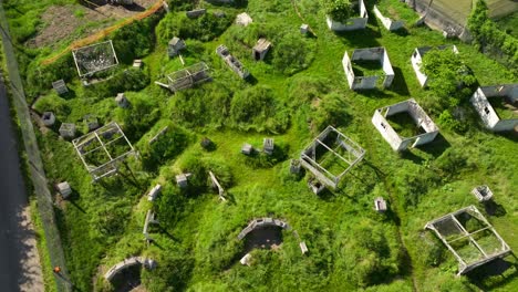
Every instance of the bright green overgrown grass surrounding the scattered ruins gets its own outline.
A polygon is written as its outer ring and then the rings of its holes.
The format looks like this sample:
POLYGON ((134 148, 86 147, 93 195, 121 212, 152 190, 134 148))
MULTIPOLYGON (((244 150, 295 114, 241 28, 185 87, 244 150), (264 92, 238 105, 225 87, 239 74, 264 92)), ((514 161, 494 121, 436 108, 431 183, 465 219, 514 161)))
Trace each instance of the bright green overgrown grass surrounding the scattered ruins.
MULTIPOLYGON (((466 134, 439 125, 434 143, 397 154, 371 118, 376 108, 414 97, 437 121, 427 108, 432 93, 421 88, 410 62, 416 46, 456 44, 483 85, 512 83, 517 76, 475 48, 446 41, 426 28, 407 25, 404 32, 390 33, 372 17, 365 31, 335 34, 328 30, 318 2, 296 3, 303 21, 290 1, 249 0, 246 8, 201 2, 208 13, 225 11, 229 19, 246 10, 255 23, 231 24, 214 39, 201 40, 210 30, 186 38, 186 65, 207 63, 213 82, 175 95, 153 82, 182 67, 178 58, 167 56, 166 42, 187 20, 185 11, 163 17, 152 50, 138 55, 149 82, 126 91, 133 105, 128 109, 116 106, 115 95, 82 86, 76 75, 68 82, 71 94, 63 97, 51 91, 51 84, 37 87, 28 82, 34 92, 28 98, 41 95, 38 111, 53 111, 59 122, 77 125, 90 113, 103 124, 116 121, 141 152, 139 159, 128 160, 128 168, 121 166, 121 175, 92 184, 72 144, 60 139, 56 128, 38 133, 50 182, 68 180, 74 190, 56 207, 71 281, 81 291, 112 291, 103 273, 124 258, 142 254, 158 262, 156 270, 141 273, 148 291, 515 291, 515 259, 507 259, 511 268, 505 277, 456 278, 454 257, 423 228, 428 220, 477 205, 469 191, 487 184, 499 211, 489 216, 484 206, 477 207, 511 249, 518 249, 518 158, 511 155, 516 133, 487 133, 465 102, 466 134), (299 34, 301 23, 309 23, 317 36, 299 34), (251 58, 258 36, 272 41, 265 62, 251 58), (219 44, 229 48, 251 79, 242 81, 227 67, 215 53, 219 44), (394 83, 385 91, 352 92, 341 64, 343 53, 372 46, 387 50, 394 83), (177 136, 172 135, 170 144, 147 166, 148 139, 166 124, 177 136), (289 160, 329 124, 360 144, 366 156, 338 190, 315 196, 307 186, 308 175, 289 174, 289 160), (214 150, 199 145, 205 136, 215 143, 214 150), (260 149, 263 137, 274 138, 272 157, 239 153, 244 143, 260 149), (207 187, 208 170, 221 180, 227 202, 207 187), (183 171, 194 174, 187 190, 175 181, 183 171), (149 202, 145 194, 156 184, 163 185, 162 195, 149 202), (373 210, 380 196, 388 202, 385 215, 373 210), (149 208, 160 223, 152 228, 154 243, 147 247, 142 228, 149 208), (252 265, 241 265, 244 242, 236 237, 257 217, 284 219, 310 252, 302 255, 299 241, 283 231, 279 250, 255 250, 252 265)), ((407 23, 415 18, 410 9, 401 15, 412 18, 405 19, 407 23)), ((24 21, 13 11, 10 17, 11 23, 24 21)), ((12 33, 17 32, 14 28, 12 33)), ((30 75, 51 53, 49 48, 24 51, 19 61, 30 75)), ((123 63, 117 72, 128 66, 123 63)))

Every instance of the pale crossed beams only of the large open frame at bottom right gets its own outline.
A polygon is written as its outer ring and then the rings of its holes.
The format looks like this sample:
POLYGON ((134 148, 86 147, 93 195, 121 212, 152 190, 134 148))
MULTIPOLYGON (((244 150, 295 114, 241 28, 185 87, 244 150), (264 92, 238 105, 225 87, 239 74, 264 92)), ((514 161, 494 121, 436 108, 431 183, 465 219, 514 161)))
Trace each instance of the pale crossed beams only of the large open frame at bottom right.
POLYGON ((480 265, 483 265, 483 264, 485 264, 485 263, 487 263, 489 261, 493 261, 494 259, 503 258, 503 257, 505 257, 505 255, 507 255, 507 254, 509 254, 511 252, 511 250, 510 250, 509 246, 506 243, 506 241, 504 241, 504 239, 498 234, 498 232, 495 230, 495 228, 493 228, 493 226, 487 221, 487 219, 473 205, 427 222, 426 226, 425 226, 425 229, 433 230, 436 233, 436 236, 441 239, 441 241, 443 241, 443 243, 446 246, 446 248, 457 259, 457 261, 458 261, 458 273, 457 273, 457 275, 465 274, 465 273, 469 272, 470 270, 473 270, 473 269, 475 269, 477 267, 480 267, 480 265), (483 227, 483 228, 480 228, 478 230, 475 230, 473 232, 468 232, 464 228, 464 226, 458 221, 458 219, 456 218, 456 216, 458 216, 460 213, 468 213, 469 216, 472 216, 472 217, 478 219, 480 222, 483 222, 485 225, 485 227, 483 227), (437 223, 444 223, 445 221, 446 221, 446 223, 450 223, 454 227, 456 227, 459 230, 459 233, 462 236, 458 237, 458 238, 455 238, 453 240, 447 240, 445 238, 445 236, 443 233, 441 233, 441 231, 436 227, 437 223), (491 231, 493 236, 495 236, 495 238, 498 239, 498 241, 500 242, 501 246, 500 246, 500 249, 498 251, 489 253, 488 251, 486 251, 485 249, 483 249, 478 244, 476 239, 473 238, 474 234, 476 234, 478 232, 481 232, 481 231, 486 231, 486 230, 491 231), (472 243, 479 251, 480 255, 478 257, 477 260, 468 262, 466 259, 463 259, 463 257, 460 257, 457 253, 457 251, 452 247, 450 243, 453 243, 455 241, 458 241, 458 240, 462 240, 462 239, 468 239, 469 243, 472 243))

